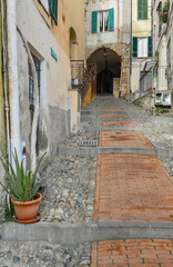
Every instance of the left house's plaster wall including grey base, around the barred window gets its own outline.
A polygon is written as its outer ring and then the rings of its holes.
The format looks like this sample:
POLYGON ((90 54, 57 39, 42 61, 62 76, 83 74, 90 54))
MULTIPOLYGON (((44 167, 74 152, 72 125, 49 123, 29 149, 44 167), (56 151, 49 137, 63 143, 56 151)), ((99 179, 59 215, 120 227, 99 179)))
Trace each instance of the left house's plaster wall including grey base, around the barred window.
MULTIPOLYGON (((32 53, 41 61, 39 138, 43 150, 55 155, 59 142, 69 134, 70 117, 68 90, 71 85, 70 60, 67 52, 68 27, 59 41, 63 27, 50 28, 31 0, 17 1, 18 26, 29 42, 32 53), (54 33, 55 31, 55 33, 54 33), (67 33, 67 34, 65 34, 67 33), (58 62, 51 56, 51 47, 58 62)), ((30 150, 30 111, 28 57, 18 34, 21 139, 30 150)), ((30 151, 29 151, 30 152, 30 151)))

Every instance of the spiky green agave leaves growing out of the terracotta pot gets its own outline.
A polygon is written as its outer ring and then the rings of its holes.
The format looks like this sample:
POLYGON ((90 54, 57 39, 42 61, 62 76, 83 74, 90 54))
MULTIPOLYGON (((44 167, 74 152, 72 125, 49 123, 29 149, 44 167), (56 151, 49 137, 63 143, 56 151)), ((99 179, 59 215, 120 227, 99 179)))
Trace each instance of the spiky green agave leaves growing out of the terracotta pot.
POLYGON ((35 192, 41 186, 41 182, 35 185, 35 177, 39 169, 39 166, 42 161, 47 152, 44 152, 38 161, 35 170, 32 172, 31 167, 29 169, 24 169, 23 160, 21 164, 19 162, 19 158, 17 155, 17 150, 14 150, 13 159, 16 169, 12 168, 11 164, 9 164, 9 170, 6 166, 3 159, 0 157, 0 160, 3 165, 3 168, 7 174, 6 185, 0 181, 0 185, 3 189, 13 198, 16 201, 30 201, 34 198, 35 192))

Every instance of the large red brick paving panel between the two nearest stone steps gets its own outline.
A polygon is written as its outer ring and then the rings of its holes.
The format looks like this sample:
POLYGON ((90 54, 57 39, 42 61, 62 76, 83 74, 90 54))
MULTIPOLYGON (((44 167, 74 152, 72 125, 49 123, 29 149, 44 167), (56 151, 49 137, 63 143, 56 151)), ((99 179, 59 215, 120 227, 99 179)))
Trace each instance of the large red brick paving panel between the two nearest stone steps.
POLYGON ((145 155, 100 155, 93 219, 173 221, 173 184, 160 160, 145 155))

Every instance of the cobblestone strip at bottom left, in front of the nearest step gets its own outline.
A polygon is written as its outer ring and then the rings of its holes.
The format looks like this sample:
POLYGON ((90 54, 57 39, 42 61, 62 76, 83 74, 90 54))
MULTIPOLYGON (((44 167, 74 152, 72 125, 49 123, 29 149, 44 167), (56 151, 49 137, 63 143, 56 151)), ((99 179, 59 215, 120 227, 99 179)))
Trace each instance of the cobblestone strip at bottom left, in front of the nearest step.
POLYGON ((83 267, 90 265, 90 244, 0 243, 1 267, 83 267))

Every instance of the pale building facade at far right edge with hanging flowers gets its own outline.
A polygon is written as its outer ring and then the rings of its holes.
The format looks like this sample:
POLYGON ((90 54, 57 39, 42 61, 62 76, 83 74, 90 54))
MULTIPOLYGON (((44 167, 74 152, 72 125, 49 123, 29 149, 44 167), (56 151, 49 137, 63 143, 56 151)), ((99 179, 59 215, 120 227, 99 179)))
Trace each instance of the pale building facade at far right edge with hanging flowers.
POLYGON ((173 1, 153 1, 154 87, 156 91, 169 91, 171 93, 173 87, 172 21, 173 1))

